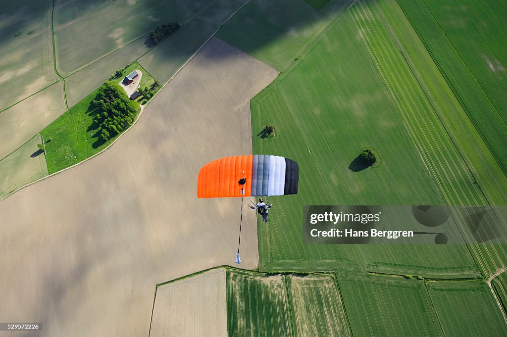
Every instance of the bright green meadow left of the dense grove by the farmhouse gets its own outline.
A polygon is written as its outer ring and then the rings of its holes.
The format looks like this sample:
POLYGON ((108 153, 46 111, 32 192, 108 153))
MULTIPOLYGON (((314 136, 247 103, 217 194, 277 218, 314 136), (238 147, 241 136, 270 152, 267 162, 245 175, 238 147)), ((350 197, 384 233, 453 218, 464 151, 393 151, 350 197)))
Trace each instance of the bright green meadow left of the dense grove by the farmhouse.
POLYGON ((97 92, 98 88, 41 131, 45 139, 52 138, 46 143, 50 174, 93 156, 116 139, 111 138, 105 143, 98 139, 98 130, 93 125, 98 111, 91 104, 97 92))

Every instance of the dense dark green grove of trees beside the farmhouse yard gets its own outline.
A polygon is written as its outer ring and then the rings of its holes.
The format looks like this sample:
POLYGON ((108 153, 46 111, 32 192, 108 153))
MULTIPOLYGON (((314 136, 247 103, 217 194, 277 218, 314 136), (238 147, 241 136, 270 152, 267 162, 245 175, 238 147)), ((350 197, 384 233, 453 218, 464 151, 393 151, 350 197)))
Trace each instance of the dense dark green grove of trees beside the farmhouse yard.
POLYGON ((98 113, 93 123, 99 127, 99 140, 105 142, 127 129, 139 113, 138 102, 132 101, 119 84, 105 82, 98 90, 93 104, 98 113))

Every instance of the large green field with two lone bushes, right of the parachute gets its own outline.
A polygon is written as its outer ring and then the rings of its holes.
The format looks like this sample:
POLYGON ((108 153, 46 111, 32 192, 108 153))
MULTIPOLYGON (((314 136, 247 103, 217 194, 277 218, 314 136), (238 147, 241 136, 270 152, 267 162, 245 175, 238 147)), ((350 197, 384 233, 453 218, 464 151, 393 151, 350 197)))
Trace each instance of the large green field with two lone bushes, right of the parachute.
MULTIPOLYGON (((393 106, 389 90, 372 64, 353 17, 347 14, 297 64, 252 99, 253 153, 283 154, 300 166, 298 195, 270 198, 275 208, 269 226, 259 224, 262 270, 315 271, 339 266, 428 277, 478 274, 466 247, 303 245, 301 223, 287 220, 300 219, 302 205, 444 202, 435 185, 440 182, 431 178, 428 164, 421 159, 429 155, 421 152, 420 143, 414 144, 414 131, 407 131, 408 124, 393 106), (276 127, 274 138, 256 136, 266 124, 276 127), (364 148, 375 149, 380 165, 353 172, 349 165, 364 148)), ((425 131, 429 122, 424 118, 435 119, 434 113, 415 117, 422 119, 422 125, 414 123, 425 131)), ((427 132, 437 137, 439 131, 442 128, 427 132)), ((437 146, 435 140, 430 144, 437 146)), ((450 152, 451 158, 458 157, 450 152)), ((439 153, 430 155, 434 166, 444 165, 437 161, 439 153)), ((463 188, 472 185, 457 183, 463 188)))

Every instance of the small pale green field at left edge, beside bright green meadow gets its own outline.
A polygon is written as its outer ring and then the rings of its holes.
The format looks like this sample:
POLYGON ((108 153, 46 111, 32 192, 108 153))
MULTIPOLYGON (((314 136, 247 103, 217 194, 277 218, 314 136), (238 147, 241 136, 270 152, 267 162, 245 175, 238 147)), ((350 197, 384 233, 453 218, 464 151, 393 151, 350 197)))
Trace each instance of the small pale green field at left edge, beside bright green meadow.
POLYGON ((44 152, 37 144, 41 135, 33 137, 15 152, 0 160, 0 199, 26 183, 48 175, 44 152))

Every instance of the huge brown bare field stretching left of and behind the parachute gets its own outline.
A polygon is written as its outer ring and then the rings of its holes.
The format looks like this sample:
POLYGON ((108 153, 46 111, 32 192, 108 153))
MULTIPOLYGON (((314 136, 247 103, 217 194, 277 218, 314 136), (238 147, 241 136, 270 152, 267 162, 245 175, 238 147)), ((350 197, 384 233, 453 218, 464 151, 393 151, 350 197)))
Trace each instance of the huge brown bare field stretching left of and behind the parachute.
MULTIPOLYGON (((237 266, 241 201, 197 199, 197 175, 251 153, 248 102, 276 76, 212 39, 104 154, 0 202, 0 317, 48 337, 148 335, 156 284, 237 266)), ((258 265, 253 211, 241 259, 258 265)))

